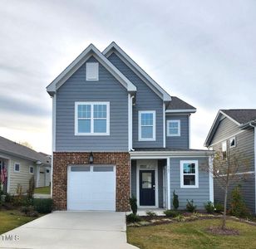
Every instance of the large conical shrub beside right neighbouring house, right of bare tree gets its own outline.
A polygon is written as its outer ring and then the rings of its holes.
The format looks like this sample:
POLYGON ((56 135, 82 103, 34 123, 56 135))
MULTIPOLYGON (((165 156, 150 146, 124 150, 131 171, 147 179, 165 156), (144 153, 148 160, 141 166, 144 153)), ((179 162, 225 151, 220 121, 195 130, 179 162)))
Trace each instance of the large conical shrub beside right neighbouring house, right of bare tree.
POLYGON ((229 208, 229 214, 235 217, 249 217, 249 210, 247 209, 244 198, 241 193, 241 185, 234 188, 231 193, 231 203, 229 208))

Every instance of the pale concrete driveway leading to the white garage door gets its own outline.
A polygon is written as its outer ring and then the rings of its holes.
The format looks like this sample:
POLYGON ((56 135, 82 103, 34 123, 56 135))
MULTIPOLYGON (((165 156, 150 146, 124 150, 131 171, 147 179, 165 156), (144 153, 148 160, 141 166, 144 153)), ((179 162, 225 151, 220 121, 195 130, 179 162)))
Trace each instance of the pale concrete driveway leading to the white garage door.
POLYGON ((0 248, 137 248, 126 243, 125 212, 53 212, 5 235, 0 248))

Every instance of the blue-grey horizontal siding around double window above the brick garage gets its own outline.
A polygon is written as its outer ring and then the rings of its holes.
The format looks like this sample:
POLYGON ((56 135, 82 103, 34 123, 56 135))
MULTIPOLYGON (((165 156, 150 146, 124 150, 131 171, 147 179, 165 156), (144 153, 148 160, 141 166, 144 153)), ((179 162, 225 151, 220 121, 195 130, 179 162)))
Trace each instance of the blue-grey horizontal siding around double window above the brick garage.
MULTIPOLYGON (((87 61, 96 62, 91 56, 87 61)), ((99 81, 86 81, 84 63, 57 90, 56 151, 127 151, 128 94, 99 63, 99 81), (75 102, 109 101, 110 135, 75 135, 75 102)))

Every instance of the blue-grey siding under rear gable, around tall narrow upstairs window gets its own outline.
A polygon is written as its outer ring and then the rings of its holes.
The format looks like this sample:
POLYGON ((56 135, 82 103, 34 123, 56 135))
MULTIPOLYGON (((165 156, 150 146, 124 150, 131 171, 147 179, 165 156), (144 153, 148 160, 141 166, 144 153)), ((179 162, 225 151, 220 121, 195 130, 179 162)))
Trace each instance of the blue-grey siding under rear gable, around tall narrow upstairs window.
POLYGON ((150 89, 121 59, 112 53, 109 61, 116 66, 137 88, 135 106, 133 106, 133 147, 161 148, 163 147, 163 100, 150 89), (140 110, 155 110, 155 141, 139 141, 138 112, 140 110))

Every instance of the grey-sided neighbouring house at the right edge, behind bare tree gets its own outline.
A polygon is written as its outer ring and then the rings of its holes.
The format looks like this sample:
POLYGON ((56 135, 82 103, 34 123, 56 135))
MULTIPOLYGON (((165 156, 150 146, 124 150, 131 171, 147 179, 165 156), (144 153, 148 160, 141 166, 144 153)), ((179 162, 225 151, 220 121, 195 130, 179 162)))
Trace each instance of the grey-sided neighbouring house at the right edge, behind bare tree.
MULTIPOLYGON (((249 110, 219 110, 214 120, 205 146, 214 151, 227 151, 243 157, 249 161, 239 167, 240 181, 231 183, 230 190, 238 184, 242 186, 242 193, 251 212, 255 213, 255 156, 256 156, 256 109, 249 110)), ((229 191, 230 192, 230 191, 229 191)), ((218 181, 214 180, 214 201, 223 203, 224 191, 219 187, 218 181)))

